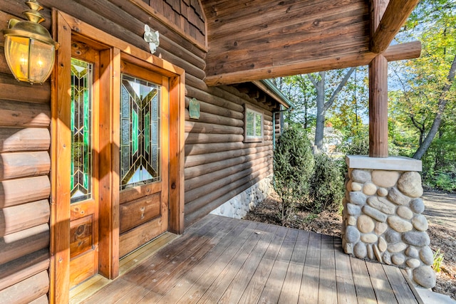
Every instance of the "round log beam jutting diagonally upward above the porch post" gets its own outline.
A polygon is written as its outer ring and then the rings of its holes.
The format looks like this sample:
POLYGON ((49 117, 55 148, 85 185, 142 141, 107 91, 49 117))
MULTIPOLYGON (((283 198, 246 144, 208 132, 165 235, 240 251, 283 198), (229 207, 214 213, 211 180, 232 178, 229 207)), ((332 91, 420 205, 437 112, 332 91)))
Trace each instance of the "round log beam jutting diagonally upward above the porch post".
MULTIPOLYGON (((380 2, 380 0, 374 1, 380 2)), ((393 38, 400 30, 400 27, 403 26, 419 1, 420 0, 389 1, 388 6, 386 6, 385 13, 383 13, 383 16, 380 19, 378 27, 371 34, 371 52, 382 53, 388 48, 391 41, 393 41, 393 38)), ((375 14, 375 9, 371 8, 371 14, 375 14)), ((378 16, 372 16, 371 20, 376 19, 376 17, 378 16)))

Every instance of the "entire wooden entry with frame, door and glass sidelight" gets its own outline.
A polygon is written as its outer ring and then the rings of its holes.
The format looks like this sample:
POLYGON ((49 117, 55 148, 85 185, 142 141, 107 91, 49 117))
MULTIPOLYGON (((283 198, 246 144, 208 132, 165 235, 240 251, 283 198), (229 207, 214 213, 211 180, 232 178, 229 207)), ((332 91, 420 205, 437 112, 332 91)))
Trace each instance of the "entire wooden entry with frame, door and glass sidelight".
POLYGON ((185 70, 53 13, 49 297, 68 303, 71 287, 183 232, 185 70))

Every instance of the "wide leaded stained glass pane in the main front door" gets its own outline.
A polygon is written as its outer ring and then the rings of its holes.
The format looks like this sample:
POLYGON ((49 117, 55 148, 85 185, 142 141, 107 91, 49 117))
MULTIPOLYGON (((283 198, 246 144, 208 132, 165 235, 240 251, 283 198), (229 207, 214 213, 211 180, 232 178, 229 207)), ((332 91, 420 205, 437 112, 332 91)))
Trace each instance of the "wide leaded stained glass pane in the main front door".
POLYGON ((120 189, 160 181, 160 86, 122 75, 120 189))

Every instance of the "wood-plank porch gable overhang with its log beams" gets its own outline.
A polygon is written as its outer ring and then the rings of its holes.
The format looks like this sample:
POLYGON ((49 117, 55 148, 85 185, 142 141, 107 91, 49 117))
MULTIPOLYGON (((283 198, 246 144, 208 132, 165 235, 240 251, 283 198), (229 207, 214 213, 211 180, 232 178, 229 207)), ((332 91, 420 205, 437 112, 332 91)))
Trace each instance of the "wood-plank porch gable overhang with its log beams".
POLYGON ((202 0, 207 19, 207 85, 367 65, 420 56, 420 42, 390 46, 418 0, 202 0), (373 31, 373 28, 377 28, 373 31))

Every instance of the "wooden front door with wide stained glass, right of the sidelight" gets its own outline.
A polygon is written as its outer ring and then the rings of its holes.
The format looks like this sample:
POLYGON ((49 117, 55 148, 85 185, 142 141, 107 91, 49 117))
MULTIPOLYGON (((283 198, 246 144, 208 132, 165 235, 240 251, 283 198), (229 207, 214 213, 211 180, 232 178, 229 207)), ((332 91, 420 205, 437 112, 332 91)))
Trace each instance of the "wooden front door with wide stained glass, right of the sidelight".
POLYGON ((120 62, 119 256, 167 231, 168 78, 120 62))

